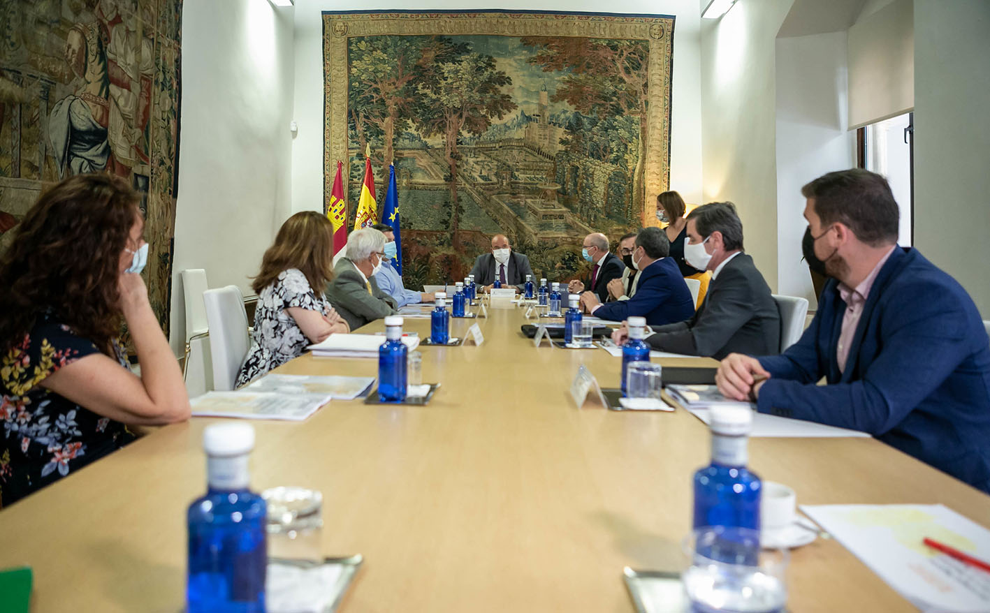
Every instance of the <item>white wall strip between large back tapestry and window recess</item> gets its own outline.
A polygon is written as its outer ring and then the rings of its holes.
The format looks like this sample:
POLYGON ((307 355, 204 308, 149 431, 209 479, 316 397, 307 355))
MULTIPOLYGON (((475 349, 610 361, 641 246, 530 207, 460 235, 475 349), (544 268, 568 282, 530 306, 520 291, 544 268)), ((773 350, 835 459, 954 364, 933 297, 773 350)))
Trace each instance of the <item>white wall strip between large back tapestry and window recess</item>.
POLYGON ((793 0, 737 2, 702 20, 701 99, 704 200, 729 200, 743 219, 745 250, 777 289, 774 55, 793 0))

